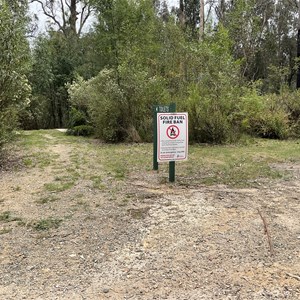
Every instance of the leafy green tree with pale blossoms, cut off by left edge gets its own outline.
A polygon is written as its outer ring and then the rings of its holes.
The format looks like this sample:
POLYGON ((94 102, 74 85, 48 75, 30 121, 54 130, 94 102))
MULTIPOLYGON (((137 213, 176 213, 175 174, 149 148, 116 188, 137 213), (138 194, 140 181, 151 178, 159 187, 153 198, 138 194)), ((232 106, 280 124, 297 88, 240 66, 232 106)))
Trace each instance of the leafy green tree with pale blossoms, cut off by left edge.
POLYGON ((27 1, 0 0, 0 148, 29 102, 26 12, 27 1))

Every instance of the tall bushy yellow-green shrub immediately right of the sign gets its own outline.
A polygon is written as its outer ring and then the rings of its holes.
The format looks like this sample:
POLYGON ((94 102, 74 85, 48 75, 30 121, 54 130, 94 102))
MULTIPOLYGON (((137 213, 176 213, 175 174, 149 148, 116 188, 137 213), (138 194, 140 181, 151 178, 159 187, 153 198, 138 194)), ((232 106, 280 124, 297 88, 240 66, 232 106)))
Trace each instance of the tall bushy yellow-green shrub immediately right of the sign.
POLYGON ((183 109, 190 115, 190 138, 197 142, 225 143, 237 139, 233 115, 240 97, 239 65, 230 55, 227 32, 217 34, 190 48, 190 69, 198 71, 189 84, 183 109))

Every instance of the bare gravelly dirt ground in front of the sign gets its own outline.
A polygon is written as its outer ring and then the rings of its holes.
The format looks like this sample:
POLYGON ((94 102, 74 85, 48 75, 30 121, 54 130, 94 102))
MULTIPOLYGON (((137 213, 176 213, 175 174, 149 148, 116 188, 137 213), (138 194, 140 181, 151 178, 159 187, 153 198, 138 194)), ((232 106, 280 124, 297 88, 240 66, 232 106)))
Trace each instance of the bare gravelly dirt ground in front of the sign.
POLYGON ((51 192, 45 183, 76 160, 85 172, 103 166, 84 143, 45 139, 55 164, 0 172, 0 299, 300 299, 299 165, 274 165, 290 179, 251 189, 135 171, 51 192))

